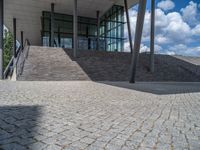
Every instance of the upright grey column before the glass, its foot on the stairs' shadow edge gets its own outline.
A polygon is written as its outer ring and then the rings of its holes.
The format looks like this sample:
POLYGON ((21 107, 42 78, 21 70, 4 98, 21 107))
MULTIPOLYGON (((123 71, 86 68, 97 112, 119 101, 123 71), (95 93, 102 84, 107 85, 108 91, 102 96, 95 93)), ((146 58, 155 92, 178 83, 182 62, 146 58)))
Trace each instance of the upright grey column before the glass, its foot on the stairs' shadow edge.
POLYGON ((77 17, 77 0, 74 0, 74 8, 73 8, 73 30, 74 30, 74 57, 77 57, 77 49, 78 49, 78 17, 77 17))

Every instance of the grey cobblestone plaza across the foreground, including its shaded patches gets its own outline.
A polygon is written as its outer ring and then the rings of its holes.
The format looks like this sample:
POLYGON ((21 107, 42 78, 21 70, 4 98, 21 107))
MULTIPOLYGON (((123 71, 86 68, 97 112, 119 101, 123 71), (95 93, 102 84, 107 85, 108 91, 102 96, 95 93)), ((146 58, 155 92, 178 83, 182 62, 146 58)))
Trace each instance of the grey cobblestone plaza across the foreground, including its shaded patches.
POLYGON ((0 82, 0 147, 199 150, 200 83, 0 82))

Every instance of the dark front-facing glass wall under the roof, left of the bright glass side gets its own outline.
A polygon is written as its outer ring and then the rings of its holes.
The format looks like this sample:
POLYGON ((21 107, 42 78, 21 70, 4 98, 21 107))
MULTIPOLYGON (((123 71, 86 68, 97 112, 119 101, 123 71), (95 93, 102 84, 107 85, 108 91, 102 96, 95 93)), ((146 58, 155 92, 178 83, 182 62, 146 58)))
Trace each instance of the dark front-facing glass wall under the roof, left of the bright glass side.
MULTIPOLYGON (((42 17, 42 43, 43 46, 50 44, 50 12, 43 12, 42 17)), ((80 49, 95 49, 94 39, 97 34, 96 19, 78 17, 78 37, 80 49)), ((54 22, 54 46, 63 48, 73 47, 73 16, 55 13, 54 22)))

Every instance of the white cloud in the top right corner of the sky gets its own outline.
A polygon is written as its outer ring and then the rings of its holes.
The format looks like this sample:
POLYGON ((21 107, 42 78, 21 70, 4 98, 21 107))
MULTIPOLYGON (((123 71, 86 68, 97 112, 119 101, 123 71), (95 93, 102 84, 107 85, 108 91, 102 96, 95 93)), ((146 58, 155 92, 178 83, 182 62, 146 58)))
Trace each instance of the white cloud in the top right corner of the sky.
POLYGON ((197 25, 199 23, 197 19, 197 12, 197 3, 194 3, 193 1, 190 1, 189 5, 181 9, 184 21, 191 25, 197 25))

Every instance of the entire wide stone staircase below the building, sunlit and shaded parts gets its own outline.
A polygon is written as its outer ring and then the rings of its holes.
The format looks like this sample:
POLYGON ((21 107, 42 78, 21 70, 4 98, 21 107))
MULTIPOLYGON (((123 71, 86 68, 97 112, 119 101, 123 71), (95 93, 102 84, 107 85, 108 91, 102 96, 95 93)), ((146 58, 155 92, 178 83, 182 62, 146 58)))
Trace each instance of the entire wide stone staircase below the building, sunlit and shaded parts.
MULTIPOLYGON (((79 51, 78 58, 74 59, 72 50, 31 46, 19 80, 128 81, 130 64, 130 53, 79 51)), ((200 81, 200 76, 192 69, 196 70, 200 67, 180 57, 155 55, 155 73, 153 74, 149 73, 148 64, 149 55, 140 54, 137 81, 200 81)))

